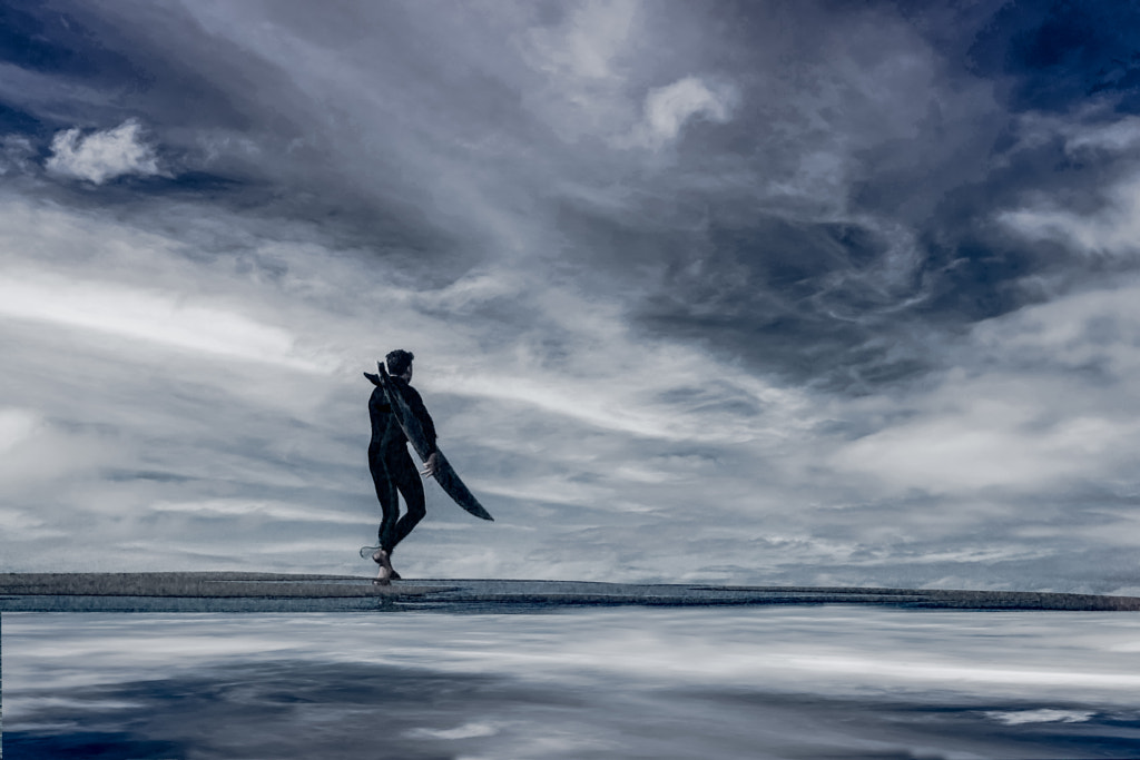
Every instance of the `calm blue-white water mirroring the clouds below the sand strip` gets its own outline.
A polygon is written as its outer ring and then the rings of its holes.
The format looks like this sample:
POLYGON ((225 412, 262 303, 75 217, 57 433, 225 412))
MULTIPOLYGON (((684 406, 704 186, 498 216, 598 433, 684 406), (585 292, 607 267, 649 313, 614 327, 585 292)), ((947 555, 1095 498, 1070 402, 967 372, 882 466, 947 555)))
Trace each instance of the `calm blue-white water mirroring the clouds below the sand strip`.
POLYGON ((18 758, 1135 758, 1140 615, 2 619, 18 758))

